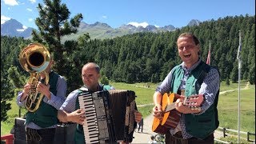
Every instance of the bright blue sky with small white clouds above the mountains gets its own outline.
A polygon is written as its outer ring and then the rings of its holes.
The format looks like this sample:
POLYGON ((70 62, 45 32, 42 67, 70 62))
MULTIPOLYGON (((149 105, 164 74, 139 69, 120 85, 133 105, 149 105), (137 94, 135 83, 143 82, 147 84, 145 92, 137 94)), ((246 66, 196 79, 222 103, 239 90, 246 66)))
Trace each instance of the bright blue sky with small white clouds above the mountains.
MULTIPOLYGON (((26 27, 37 26, 37 6, 42 0, 1 0, 1 24, 14 18, 26 27)), ((81 13, 83 22, 104 22, 113 28, 134 25, 186 26, 191 19, 206 20, 234 15, 255 15, 254 0, 62 0, 70 17, 81 13)))

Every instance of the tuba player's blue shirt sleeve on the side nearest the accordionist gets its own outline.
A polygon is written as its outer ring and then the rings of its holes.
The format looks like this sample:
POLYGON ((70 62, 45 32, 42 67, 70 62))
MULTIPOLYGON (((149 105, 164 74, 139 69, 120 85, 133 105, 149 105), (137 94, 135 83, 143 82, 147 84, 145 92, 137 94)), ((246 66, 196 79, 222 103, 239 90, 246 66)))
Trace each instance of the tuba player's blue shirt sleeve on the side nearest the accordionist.
POLYGON ((58 110, 66 99, 66 80, 62 76, 58 78, 56 90, 57 94, 50 93, 50 100, 45 97, 44 102, 54 106, 58 110))

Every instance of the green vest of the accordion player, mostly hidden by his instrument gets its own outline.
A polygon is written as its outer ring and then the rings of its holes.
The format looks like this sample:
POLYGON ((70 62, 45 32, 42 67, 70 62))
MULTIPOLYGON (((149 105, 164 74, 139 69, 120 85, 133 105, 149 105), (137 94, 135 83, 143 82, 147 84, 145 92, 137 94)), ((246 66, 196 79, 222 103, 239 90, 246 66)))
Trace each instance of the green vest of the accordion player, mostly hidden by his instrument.
MULTIPOLYGON (((78 94, 81 94, 82 92, 86 92, 86 90, 82 90, 82 88, 78 89, 78 90, 80 90, 80 92, 78 94)), ((101 91, 101 90, 110 90, 110 87, 100 85, 98 91, 101 91)), ((79 106, 78 97, 77 97, 76 98, 76 103, 75 103, 75 110, 78 110, 78 109, 80 109, 80 106, 79 106)), ((75 144, 84 144, 84 143, 86 143, 84 133, 83 133, 83 128, 82 128, 82 125, 80 125, 80 124, 77 125, 76 131, 74 133, 74 143, 75 144)))

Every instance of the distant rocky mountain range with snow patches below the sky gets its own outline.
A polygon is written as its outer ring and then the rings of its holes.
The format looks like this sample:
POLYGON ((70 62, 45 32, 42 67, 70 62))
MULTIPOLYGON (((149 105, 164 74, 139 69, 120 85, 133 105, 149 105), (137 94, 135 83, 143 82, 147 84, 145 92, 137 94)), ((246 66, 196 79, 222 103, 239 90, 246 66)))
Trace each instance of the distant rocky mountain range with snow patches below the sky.
MULTIPOLYGON (((187 26, 198 26, 200 21, 196 19, 192 19, 187 26)), ((10 19, 5 23, 1 24, 1 35, 7 35, 10 37, 23 37, 23 38, 31 38, 31 32, 34 28, 23 26, 21 22, 18 22, 15 19, 10 19)), ((79 35, 89 33, 90 38, 114 38, 126 34, 134 34, 138 32, 163 32, 163 31, 174 31, 175 28, 172 25, 157 27, 153 25, 148 25, 146 27, 143 26, 133 26, 131 24, 126 24, 119 26, 118 28, 112 28, 106 23, 95 22, 94 24, 87 24, 86 22, 81 22, 78 27, 77 34, 70 34, 68 36, 64 36, 62 41, 77 39, 79 35)))

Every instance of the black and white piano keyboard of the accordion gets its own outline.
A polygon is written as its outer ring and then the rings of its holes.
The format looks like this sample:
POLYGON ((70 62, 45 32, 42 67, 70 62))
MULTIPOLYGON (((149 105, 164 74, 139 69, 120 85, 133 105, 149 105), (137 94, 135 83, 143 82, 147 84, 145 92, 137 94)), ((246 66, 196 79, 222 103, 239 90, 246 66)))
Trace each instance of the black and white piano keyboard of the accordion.
POLYGON ((86 115, 83 125, 86 143, 106 143, 109 132, 103 98, 98 93, 87 93, 80 95, 78 101, 86 115))

